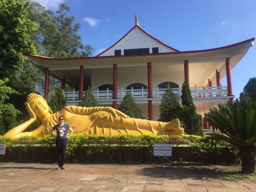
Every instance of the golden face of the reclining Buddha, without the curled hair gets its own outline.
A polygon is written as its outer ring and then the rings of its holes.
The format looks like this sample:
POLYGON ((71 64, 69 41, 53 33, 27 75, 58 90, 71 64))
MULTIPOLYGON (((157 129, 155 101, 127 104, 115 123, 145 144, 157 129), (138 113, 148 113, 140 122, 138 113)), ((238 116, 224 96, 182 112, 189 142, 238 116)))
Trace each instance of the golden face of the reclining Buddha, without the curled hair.
POLYGON ((45 99, 42 98, 35 98, 30 103, 30 108, 33 110, 35 115, 39 118, 46 117, 49 114, 49 107, 45 101, 45 99))

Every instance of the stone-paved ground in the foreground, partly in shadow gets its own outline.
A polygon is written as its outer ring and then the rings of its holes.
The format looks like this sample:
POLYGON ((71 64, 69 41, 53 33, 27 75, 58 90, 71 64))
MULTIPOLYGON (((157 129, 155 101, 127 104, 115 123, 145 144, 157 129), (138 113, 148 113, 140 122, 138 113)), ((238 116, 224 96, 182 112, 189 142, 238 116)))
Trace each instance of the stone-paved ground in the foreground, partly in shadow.
POLYGON ((256 192, 250 179, 227 179, 237 166, 0 163, 0 191, 67 192, 256 192))

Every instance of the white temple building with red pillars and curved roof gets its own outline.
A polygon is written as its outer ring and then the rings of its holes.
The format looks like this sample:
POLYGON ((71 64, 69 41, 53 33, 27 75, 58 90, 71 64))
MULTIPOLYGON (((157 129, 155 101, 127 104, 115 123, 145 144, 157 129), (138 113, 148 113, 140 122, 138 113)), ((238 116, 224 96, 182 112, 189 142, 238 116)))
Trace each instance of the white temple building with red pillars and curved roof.
MULTIPOLYGON (((135 25, 121 39, 94 57, 51 58, 25 54, 45 72, 44 98, 48 98, 49 75, 74 87, 68 105, 79 105, 88 86, 101 106, 118 108, 129 91, 148 120, 159 119, 159 105, 166 86, 179 97, 186 79, 197 113, 220 102, 234 101, 231 69, 236 67, 255 38, 206 50, 179 51, 135 25), (226 76, 225 86, 221 79, 226 76)), ((181 99, 180 99, 181 102, 181 99)))

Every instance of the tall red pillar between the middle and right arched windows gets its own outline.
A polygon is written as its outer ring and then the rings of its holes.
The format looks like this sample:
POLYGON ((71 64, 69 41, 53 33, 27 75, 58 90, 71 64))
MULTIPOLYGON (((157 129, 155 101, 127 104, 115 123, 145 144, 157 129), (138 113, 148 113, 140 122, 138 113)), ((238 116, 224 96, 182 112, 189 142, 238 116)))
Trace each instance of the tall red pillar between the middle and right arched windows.
MULTIPOLYGON (((152 94, 152 68, 151 62, 147 63, 147 90, 148 90, 148 97, 153 98, 152 94)), ((148 120, 153 120, 153 111, 152 111, 152 100, 148 100, 148 120)))

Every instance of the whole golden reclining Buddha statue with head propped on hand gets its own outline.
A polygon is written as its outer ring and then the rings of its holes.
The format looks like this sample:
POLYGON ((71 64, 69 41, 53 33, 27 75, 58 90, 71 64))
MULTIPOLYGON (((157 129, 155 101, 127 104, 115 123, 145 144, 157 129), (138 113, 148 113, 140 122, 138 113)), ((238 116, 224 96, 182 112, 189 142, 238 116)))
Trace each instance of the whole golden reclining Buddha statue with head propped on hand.
POLYGON ((174 119, 168 123, 149 121, 146 119, 130 118, 119 110, 111 107, 80 107, 65 106, 59 112, 53 113, 45 99, 38 94, 30 93, 25 102, 30 119, 8 131, 5 136, 12 139, 25 135, 44 136, 49 130, 59 123, 59 117, 64 116, 65 123, 69 124, 74 133, 88 134, 154 134, 154 135, 179 135, 184 134, 180 121, 174 119), (30 132, 23 132, 36 120, 41 125, 30 132))

